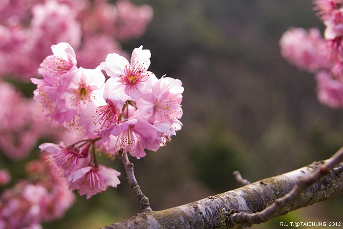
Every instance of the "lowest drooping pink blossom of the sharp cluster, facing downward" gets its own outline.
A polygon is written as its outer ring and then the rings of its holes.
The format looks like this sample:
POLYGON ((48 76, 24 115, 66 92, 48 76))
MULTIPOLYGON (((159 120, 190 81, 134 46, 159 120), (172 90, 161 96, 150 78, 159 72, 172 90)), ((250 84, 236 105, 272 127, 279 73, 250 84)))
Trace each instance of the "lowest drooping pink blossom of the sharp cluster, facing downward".
POLYGON ((120 173, 114 169, 99 165, 98 168, 87 166, 73 172, 67 179, 69 188, 78 190, 79 194, 86 195, 87 199, 106 190, 108 186, 114 188, 120 184, 120 173))

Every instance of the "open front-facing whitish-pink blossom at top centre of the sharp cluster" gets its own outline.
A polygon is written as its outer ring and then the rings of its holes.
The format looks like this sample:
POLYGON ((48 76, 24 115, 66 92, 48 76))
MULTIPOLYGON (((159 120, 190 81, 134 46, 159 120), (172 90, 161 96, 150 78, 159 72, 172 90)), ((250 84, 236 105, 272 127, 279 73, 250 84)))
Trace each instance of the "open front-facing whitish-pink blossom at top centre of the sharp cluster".
POLYGON ((132 52, 131 63, 128 63, 123 56, 112 53, 107 55, 100 68, 112 77, 107 82, 110 82, 116 90, 124 91, 130 96, 130 100, 137 100, 152 87, 156 78, 152 72, 147 71, 150 57, 150 51, 140 46, 132 52))

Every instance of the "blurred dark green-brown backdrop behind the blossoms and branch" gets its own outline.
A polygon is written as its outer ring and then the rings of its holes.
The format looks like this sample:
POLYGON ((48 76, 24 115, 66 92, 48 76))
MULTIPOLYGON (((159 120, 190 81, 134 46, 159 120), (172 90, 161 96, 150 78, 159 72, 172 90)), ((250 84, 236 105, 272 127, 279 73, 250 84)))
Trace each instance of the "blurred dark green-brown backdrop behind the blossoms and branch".
MULTIPOLYGON (((183 128, 158 152, 135 164, 137 180, 153 210, 162 210, 235 189, 232 171, 256 181, 330 157, 342 145, 343 112, 321 105, 312 74, 280 56, 278 40, 288 28, 324 26, 311 1, 142 0, 154 18, 131 52, 152 52, 158 77, 181 79, 183 128)), ((45 228, 98 228, 139 213, 125 181, 77 202, 45 228)), ((281 222, 341 220, 343 197, 317 203, 252 228, 281 222)))

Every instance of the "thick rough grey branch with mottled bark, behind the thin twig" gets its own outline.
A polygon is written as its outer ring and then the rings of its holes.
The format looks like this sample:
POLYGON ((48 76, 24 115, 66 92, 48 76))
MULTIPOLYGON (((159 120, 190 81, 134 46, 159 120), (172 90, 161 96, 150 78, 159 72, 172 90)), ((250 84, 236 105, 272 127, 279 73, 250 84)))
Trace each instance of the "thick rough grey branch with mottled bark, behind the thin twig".
MULTIPOLYGON (((289 193, 298 177, 308 177, 320 169, 324 161, 313 162, 301 169, 282 175, 256 181, 239 189, 171 209, 143 212, 125 221, 102 227, 101 229, 121 228, 243 228, 246 225, 233 225, 230 216, 238 212, 254 213, 264 210, 275 199, 289 193)), ((343 163, 338 164, 320 181, 305 190, 304 195, 276 216, 286 215, 301 207, 324 201, 343 192, 343 163)))

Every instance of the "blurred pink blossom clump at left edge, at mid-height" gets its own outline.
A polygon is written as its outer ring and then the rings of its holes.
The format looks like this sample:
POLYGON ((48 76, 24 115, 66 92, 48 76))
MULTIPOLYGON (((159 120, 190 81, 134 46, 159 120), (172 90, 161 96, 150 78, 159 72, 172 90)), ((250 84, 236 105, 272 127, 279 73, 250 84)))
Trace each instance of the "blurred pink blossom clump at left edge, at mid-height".
POLYGON ((0 151, 12 160, 27 157, 41 134, 47 132, 49 120, 38 103, 24 98, 7 82, 0 81, 0 151))

